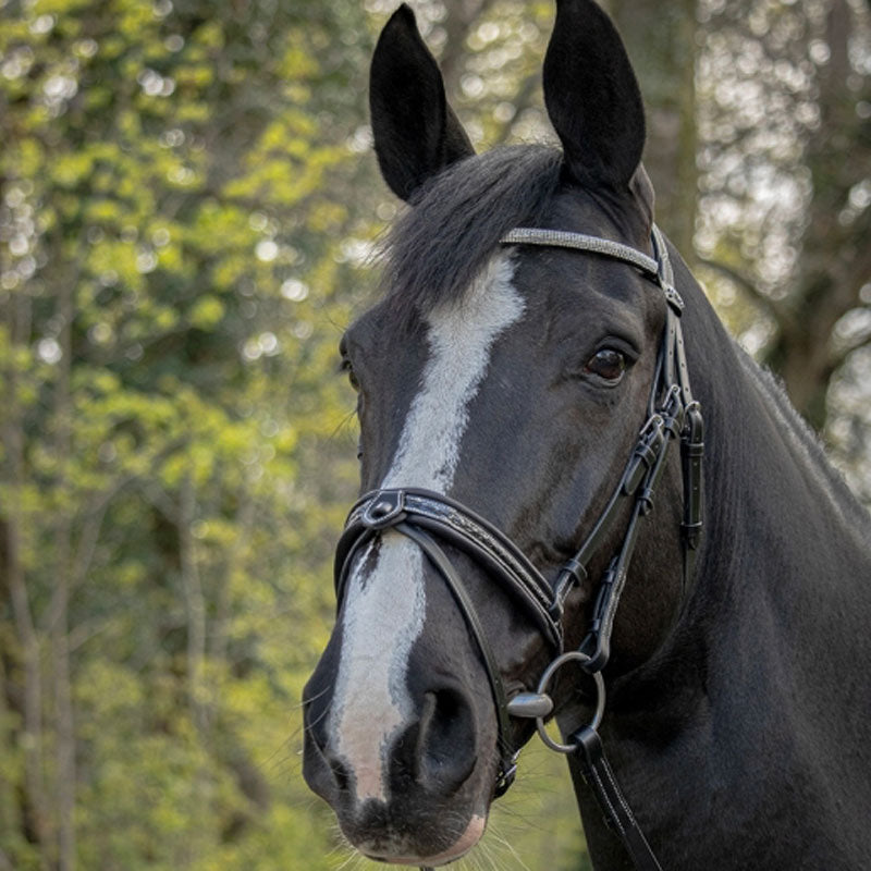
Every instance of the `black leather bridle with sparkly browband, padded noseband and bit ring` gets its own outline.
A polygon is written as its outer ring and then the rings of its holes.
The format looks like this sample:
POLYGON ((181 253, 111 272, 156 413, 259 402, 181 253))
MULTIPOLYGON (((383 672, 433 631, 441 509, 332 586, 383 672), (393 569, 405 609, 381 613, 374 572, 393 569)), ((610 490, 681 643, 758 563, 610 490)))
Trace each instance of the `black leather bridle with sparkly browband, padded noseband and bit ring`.
POLYGON ((592 530, 577 553, 560 569, 551 585, 527 556, 502 531, 465 505, 441 493, 419 488, 377 490, 364 495, 352 508, 335 554, 336 598, 341 606, 347 576, 360 549, 385 529, 414 541, 443 577, 481 652, 493 695, 499 727, 501 760, 494 796, 514 782, 517 755, 508 744, 510 719, 532 719, 544 743, 552 749, 577 756, 605 821, 623 841, 627 852, 641 871, 661 871, 650 846, 626 803, 604 756, 598 727, 604 713, 602 668, 609 661, 611 633, 621 594, 626 584, 639 522, 653 507, 653 493, 665 467, 668 449, 680 442, 684 518, 682 523, 683 580, 692 573, 702 527, 703 422, 699 403, 689 385, 680 315, 684 303, 674 286, 674 274, 665 241, 658 228, 652 231, 654 257, 622 243, 599 236, 555 230, 517 228, 501 240, 504 245, 539 245, 587 252, 636 267, 663 292, 666 302, 665 327, 648 400, 647 419, 623 475, 592 530), (593 555, 630 504, 629 520, 599 581, 587 635, 577 650, 564 651, 562 618, 569 592, 588 577, 593 555), (438 538, 438 541, 437 541, 438 538), (463 580, 440 542, 463 551, 499 581, 505 591, 526 609, 555 653, 535 692, 520 692, 508 699, 487 634, 463 580), (556 672, 567 662, 578 662, 596 686, 592 722, 574 732, 565 744, 554 741, 544 729, 553 712, 548 689, 556 672))

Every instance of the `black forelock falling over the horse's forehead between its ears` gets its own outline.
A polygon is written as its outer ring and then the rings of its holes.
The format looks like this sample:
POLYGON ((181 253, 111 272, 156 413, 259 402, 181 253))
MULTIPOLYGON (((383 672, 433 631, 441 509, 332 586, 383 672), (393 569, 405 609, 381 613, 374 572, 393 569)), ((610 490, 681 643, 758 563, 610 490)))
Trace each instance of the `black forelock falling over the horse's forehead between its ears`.
POLYGON ((421 185, 385 240, 383 284, 393 310, 410 316, 458 302, 499 240, 540 220, 562 161, 551 146, 502 146, 421 185))

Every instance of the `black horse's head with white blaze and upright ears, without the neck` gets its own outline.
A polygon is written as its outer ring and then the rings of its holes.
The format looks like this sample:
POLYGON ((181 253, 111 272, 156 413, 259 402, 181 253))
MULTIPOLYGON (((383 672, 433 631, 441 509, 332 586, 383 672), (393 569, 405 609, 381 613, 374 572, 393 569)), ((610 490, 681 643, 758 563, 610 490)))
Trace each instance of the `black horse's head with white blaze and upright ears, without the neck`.
MULTIPOLYGON (((389 240, 384 297, 341 345, 361 492, 375 495, 340 548, 339 615, 305 692, 305 776, 357 849, 394 863, 441 864, 480 838, 532 734, 527 717, 501 719, 499 696, 512 711, 555 652, 581 642, 591 579, 631 520, 636 503, 614 489, 663 367, 668 300, 627 259, 655 254, 641 97, 590 0, 557 2, 543 87, 562 148, 478 156, 407 7, 371 66, 376 154, 408 209, 389 240), (518 226, 625 256, 524 244, 518 226), (593 531, 594 552, 563 584, 593 531), (494 581, 511 573, 468 545, 488 537, 483 551, 511 551, 520 575, 529 566, 533 594, 494 581)), ((638 536, 614 625, 617 675, 654 654, 682 603, 678 459, 657 475, 658 523, 638 536)), ((551 695, 557 720, 593 700, 577 671, 551 695)))

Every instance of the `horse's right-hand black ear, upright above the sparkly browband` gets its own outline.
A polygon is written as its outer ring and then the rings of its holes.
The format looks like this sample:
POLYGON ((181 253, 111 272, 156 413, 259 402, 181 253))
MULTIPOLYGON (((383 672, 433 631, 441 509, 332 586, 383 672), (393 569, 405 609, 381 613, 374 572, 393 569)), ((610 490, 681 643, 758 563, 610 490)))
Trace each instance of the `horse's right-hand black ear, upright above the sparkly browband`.
POLYGON ((619 34, 592 0, 556 0, 543 84, 571 176, 625 189, 645 148, 645 109, 619 34))

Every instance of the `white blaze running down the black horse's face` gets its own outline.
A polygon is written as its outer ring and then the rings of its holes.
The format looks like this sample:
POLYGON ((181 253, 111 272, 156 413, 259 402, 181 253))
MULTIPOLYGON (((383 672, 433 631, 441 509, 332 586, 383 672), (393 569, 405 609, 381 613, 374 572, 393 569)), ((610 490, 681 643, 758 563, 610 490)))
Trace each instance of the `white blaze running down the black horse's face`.
MULTIPOLYGON (((438 307, 428 317, 430 357, 383 488, 424 487, 440 493, 451 488, 468 405, 487 372, 493 343, 524 311, 513 275, 508 256, 499 255, 461 303, 438 307)), ((330 713, 333 746, 354 772, 358 801, 387 799, 388 750, 414 716, 405 675, 426 613, 420 549, 387 531, 369 572, 372 547, 348 578, 330 713)))

